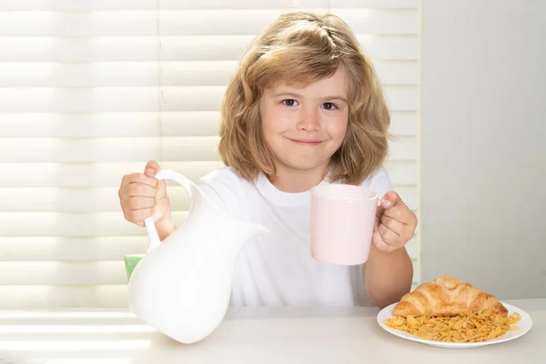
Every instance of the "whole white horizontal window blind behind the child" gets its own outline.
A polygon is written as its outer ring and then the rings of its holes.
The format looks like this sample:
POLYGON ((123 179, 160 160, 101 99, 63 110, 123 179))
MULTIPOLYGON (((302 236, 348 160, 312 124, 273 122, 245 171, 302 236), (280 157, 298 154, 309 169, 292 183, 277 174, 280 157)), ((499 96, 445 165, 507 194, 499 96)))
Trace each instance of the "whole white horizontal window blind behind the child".
MULTIPOLYGON (((223 167, 227 80, 248 42, 299 6, 343 17, 374 60, 392 110, 387 167, 418 211, 417 0, 5 0, 0 308, 126 307, 123 256, 147 237, 124 220, 121 177, 148 159, 195 181, 223 167)), ((168 191, 181 223, 190 201, 168 191)))

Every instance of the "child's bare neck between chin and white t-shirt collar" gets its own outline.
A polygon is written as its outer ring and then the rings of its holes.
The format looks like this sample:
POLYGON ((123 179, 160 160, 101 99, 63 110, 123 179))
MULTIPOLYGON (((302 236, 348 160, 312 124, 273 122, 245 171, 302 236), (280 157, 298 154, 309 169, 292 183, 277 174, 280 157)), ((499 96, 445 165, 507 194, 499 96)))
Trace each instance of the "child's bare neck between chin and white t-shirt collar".
POLYGON ((277 166, 277 176, 274 180, 271 180, 271 184, 282 192, 305 192, 322 182, 324 177, 326 177, 327 167, 320 166, 301 170, 277 166))

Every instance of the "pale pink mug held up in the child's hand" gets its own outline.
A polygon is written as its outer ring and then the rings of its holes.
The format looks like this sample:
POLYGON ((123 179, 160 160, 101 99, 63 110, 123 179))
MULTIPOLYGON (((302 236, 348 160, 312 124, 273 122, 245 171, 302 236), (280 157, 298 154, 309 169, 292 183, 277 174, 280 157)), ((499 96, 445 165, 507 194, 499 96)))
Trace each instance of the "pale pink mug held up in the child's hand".
POLYGON ((358 265, 368 261, 379 196, 359 186, 311 188, 310 250, 319 261, 358 265))

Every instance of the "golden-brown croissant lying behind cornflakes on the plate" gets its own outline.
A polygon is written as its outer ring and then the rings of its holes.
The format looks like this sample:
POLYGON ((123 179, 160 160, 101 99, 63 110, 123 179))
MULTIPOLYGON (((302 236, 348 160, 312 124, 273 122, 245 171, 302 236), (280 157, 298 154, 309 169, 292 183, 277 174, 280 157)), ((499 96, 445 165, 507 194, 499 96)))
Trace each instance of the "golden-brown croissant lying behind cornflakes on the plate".
POLYGON ((503 317, 508 315, 508 309, 489 293, 482 292, 480 288, 459 278, 441 276, 405 294, 394 308, 393 315, 457 316, 463 312, 480 312, 486 309, 503 317))

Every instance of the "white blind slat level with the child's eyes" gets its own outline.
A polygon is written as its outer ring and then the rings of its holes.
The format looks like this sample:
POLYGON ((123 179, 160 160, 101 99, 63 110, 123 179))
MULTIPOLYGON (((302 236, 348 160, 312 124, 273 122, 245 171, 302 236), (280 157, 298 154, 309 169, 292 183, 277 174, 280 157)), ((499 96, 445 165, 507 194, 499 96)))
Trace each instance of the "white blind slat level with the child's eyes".
MULTIPOLYGON (((217 111, 226 86, 0 88, 0 112, 217 111)), ((386 86, 395 111, 419 109, 417 86, 386 86)))

